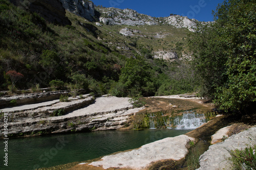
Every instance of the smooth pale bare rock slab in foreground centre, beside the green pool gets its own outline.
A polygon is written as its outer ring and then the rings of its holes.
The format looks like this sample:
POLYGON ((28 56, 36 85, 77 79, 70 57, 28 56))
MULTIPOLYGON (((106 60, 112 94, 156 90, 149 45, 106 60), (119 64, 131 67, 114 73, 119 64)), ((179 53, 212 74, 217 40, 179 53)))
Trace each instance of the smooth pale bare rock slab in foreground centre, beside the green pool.
POLYGON ((144 169, 155 161, 184 158, 188 153, 191 140, 195 141, 194 138, 186 135, 168 137, 145 144, 138 150, 104 156, 101 161, 92 162, 89 165, 102 166, 104 169, 110 167, 144 169))

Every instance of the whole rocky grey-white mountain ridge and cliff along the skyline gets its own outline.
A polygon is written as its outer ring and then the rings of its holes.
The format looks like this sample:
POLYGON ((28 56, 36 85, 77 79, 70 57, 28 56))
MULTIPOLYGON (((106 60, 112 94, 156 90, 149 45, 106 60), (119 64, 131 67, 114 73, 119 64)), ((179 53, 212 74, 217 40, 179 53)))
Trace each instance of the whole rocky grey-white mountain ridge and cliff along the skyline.
POLYGON ((189 19, 186 16, 172 15, 167 17, 152 17, 146 14, 140 14, 133 9, 105 8, 95 7, 94 3, 87 0, 60 0, 63 7, 78 16, 86 18, 88 21, 104 25, 169 25, 175 28, 185 28, 194 32, 198 23, 206 24, 196 19, 189 19), (100 22, 100 23, 98 23, 100 22))

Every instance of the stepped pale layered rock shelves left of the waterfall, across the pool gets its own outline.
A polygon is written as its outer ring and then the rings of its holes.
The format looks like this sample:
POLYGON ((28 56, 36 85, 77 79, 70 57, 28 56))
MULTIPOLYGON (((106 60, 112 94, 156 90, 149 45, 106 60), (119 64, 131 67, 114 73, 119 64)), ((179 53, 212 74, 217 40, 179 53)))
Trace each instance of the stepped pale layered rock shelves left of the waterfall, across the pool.
MULTIPOLYGON (((102 96, 94 100, 90 95, 84 98, 77 96, 69 98, 70 102, 51 101, 5 109, 9 117, 9 135, 116 130, 126 126, 130 116, 143 109, 133 108, 130 98, 102 96), (59 110, 65 114, 54 114, 59 110)), ((0 136, 3 133, 4 126, 0 125, 0 136)))

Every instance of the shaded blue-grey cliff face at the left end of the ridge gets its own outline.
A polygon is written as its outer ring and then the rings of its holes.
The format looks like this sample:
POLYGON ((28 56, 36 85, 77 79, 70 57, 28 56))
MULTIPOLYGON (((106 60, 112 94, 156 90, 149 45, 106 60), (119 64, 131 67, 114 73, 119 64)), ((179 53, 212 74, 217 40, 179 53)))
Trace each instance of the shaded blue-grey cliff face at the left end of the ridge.
POLYGON ((78 16, 94 21, 94 3, 86 0, 60 0, 63 7, 78 16))

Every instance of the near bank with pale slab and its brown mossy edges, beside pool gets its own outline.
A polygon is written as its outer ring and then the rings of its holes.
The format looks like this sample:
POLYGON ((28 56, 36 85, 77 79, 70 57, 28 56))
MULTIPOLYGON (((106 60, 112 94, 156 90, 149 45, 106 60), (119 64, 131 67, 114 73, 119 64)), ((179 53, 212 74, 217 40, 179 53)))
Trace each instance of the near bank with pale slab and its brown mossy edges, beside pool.
POLYGON ((143 145, 138 150, 133 150, 125 153, 119 153, 114 156, 105 156, 99 161, 88 162, 84 164, 78 164, 70 170, 78 169, 161 169, 166 167, 166 162, 177 168, 178 165, 184 164, 185 156, 188 153, 188 149, 194 145, 197 141, 206 139, 206 135, 209 137, 218 130, 217 127, 228 125, 226 116, 218 116, 212 119, 210 122, 202 125, 201 127, 186 133, 185 135, 166 138, 160 141, 153 142, 148 145, 143 145), (212 129, 212 127, 215 127, 212 129), (209 129, 212 129, 209 131, 209 129), (203 138, 202 138, 203 137, 203 138), (175 141, 175 142, 172 142, 175 141), (161 143, 161 144, 159 144, 161 143), (145 151, 145 148, 146 151, 145 151), (178 154, 177 154, 177 151, 178 154), (151 156, 151 152, 154 152, 154 156, 151 156), (166 153, 165 153, 166 152, 166 153), (147 156, 144 157, 143 154, 147 156), (164 155, 164 157, 162 157, 164 155), (142 160, 140 160, 142 158, 142 160), (156 159, 159 158, 159 159, 156 159), (144 162, 144 163, 141 163, 144 162), (115 167, 115 168, 113 168, 115 167))

